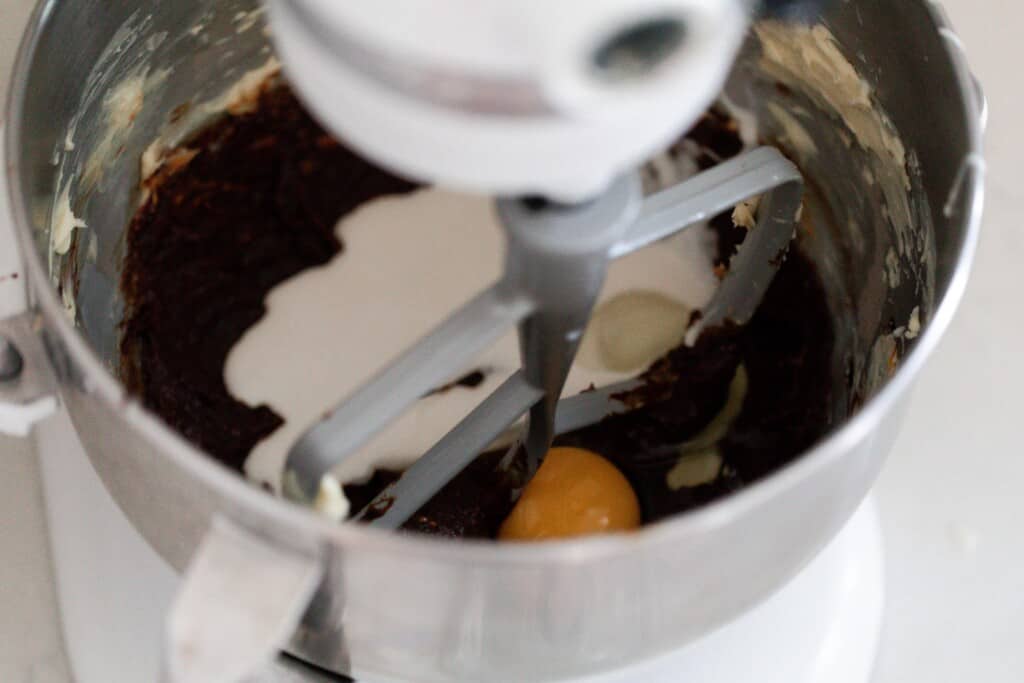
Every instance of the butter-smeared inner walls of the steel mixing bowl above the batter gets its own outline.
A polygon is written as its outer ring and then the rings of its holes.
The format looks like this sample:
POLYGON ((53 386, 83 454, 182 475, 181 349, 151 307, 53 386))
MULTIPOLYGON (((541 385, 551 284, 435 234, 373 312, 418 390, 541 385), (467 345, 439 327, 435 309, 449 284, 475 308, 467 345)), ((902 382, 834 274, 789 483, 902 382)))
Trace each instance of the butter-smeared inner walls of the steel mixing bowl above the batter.
MULTIPOLYGON (((61 84, 28 93, 28 111, 49 113, 27 117, 30 130, 22 138, 36 147, 29 158, 50 162, 30 175, 38 248, 69 315, 116 374, 123 233, 139 202, 140 158, 158 136, 173 143, 217 116, 205 104, 266 62, 269 39, 264 17, 252 12, 257 6, 251 1, 156 3, 126 13, 105 46, 102 40, 91 41, 74 55, 58 46, 52 52, 44 48, 43 53, 58 58, 34 65, 46 72, 39 82, 61 84), (68 61, 61 63, 60 57, 68 61), (129 81, 132 96, 141 93, 142 99, 137 106, 131 103, 131 121, 112 120, 110 99, 129 81), (48 231, 60 222, 58 205, 65 197, 87 228, 75 230, 71 250, 59 254, 48 231)), ((74 20, 69 14, 58 18, 74 20)), ((837 35, 842 41, 842 33, 837 35)), ((760 54, 760 43, 752 38, 726 92, 730 101, 752 111, 762 139, 798 161, 810 180, 805 211, 815 229, 813 239, 803 236, 801 247, 818 264, 837 319, 830 411, 840 424, 890 377, 894 358, 907 346, 890 333, 905 328, 914 309, 922 321, 929 318, 935 284, 948 273, 936 272, 943 264, 936 259, 934 212, 918 170, 920 145, 912 137, 905 140, 905 174, 898 161, 851 145, 849 129, 837 112, 820 105, 815 84, 806 93, 792 82, 779 87, 777 74, 762 71, 760 54), (798 133, 787 127, 792 122, 774 114, 779 108, 797 112, 798 133), (801 130, 813 148, 801 143, 801 130), (886 183, 897 177, 908 181, 896 191, 906 198, 905 206, 892 208, 886 183), (901 217, 906 215, 909 221, 901 217)), ((857 56, 852 61, 869 82, 879 80, 884 99, 885 66, 858 63, 857 56)), ((895 130, 920 130, 899 125, 898 108, 885 109, 895 130)))

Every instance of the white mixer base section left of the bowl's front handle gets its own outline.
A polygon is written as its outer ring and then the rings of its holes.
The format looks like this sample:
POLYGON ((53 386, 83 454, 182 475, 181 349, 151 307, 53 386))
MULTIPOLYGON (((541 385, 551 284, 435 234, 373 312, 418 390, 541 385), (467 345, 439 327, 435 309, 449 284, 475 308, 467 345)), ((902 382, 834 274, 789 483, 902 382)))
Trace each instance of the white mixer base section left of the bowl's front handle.
POLYGON ((177 577, 139 543, 104 495, 89 461, 78 455, 82 446, 66 415, 44 425, 36 441, 48 527, 59 553, 53 559, 61 627, 78 683, 156 681, 162 625, 154 614, 170 609, 177 577))

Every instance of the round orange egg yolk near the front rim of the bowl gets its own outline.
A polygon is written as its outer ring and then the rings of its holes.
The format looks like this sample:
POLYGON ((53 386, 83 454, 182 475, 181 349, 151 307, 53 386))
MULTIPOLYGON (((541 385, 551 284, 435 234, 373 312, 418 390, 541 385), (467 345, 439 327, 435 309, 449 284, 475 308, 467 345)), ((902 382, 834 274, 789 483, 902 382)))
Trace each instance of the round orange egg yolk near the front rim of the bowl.
POLYGON ((640 526, 640 503, 614 465, 583 449, 552 449, 502 523, 502 541, 545 541, 640 526))

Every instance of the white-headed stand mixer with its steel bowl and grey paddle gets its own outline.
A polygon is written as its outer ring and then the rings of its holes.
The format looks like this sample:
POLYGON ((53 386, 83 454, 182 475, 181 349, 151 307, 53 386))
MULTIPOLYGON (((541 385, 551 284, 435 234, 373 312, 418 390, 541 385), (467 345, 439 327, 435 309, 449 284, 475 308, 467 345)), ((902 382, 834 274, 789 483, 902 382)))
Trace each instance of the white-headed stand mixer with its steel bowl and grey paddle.
MULTIPOLYGON (((304 505, 315 503, 324 476, 361 440, 516 327, 521 373, 376 502, 387 508, 376 523, 398 525, 524 413, 536 469, 554 433, 621 410, 621 387, 558 400, 610 260, 764 195, 758 225, 690 328, 694 338, 706 326, 743 323, 757 306, 810 196, 804 177, 827 200, 805 210, 821 215, 828 204, 836 212, 835 225, 803 246, 818 250, 844 295, 837 298, 850 302, 845 332, 856 396, 848 419, 791 467, 714 506, 623 538, 515 548, 339 525, 275 500, 181 439, 112 374, 118 301, 114 288, 104 294, 99 285, 118 272, 116 245, 137 200, 135 162, 182 100, 216 94, 237 80, 231 71, 252 69, 267 49, 259 32, 232 19, 260 11, 252 3, 195 0, 144 12, 130 4, 41 6, 22 48, 5 154, 27 275, 18 286, 28 282, 32 305, 12 310, 0 329, 6 355, 23 361, 5 364, 0 398, 14 430, 52 412, 58 397, 106 502, 118 504, 165 567, 183 572, 164 642, 167 680, 245 680, 280 649, 368 680, 553 680, 627 666, 746 612, 860 506, 902 398, 958 301, 977 231, 983 101, 932 4, 800 8, 814 29, 793 30, 790 56, 806 59, 806 73, 776 65, 767 87, 751 92, 772 104, 793 92, 803 97, 801 121, 816 155, 793 143, 796 129, 784 118, 759 109, 764 139, 787 140, 785 156, 756 150, 647 198, 633 169, 718 95, 744 40, 746 3, 518 3, 513 11, 504 3, 451 2, 434 3, 429 16, 413 2, 269 5, 289 80, 321 121, 401 173, 499 197, 509 246, 502 281, 297 443, 286 483, 304 505), (71 53, 61 46, 80 33, 83 12, 93 17, 98 43, 71 53), (907 27, 920 29, 913 40, 905 40, 907 27), (213 38, 204 41, 205 33, 213 38), (844 68, 864 79, 867 94, 851 106, 873 106, 877 98, 887 112, 854 112, 856 123, 878 128, 868 131, 874 135, 850 127, 849 102, 812 69, 822 55, 855 51, 863 63, 844 68), (160 94, 146 98, 131 132, 111 147, 118 163, 106 167, 101 187, 65 184, 102 148, 82 113, 138 68, 136 57, 168 69, 154 81, 160 94), (918 96, 943 117, 922 121, 921 102, 899 94, 897 86, 908 83, 924 84, 918 96), (895 143, 891 143, 887 135, 896 130, 902 157, 895 143), (896 189, 862 180, 892 171, 906 178, 896 189), (72 217, 96 237, 98 258, 91 280, 76 283, 81 291, 65 291, 115 311, 109 321, 76 325, 53 286, 69 282, 71 259, 54 255, 47 239, 54 199, 66 190, 72 217), (906 227, 896 224, 903 207, 912 218, 906 227), (880 294, 891 245, 909 245, 897 260, 911 286, 880 294), (905 321, 918 307, 923 334, 894 366, 895 356, 883 353, 893 339, 886 321, 905 321), (876 375, 880 368, 886 372, 876 375), (631 601, 604 599, 623 595, 625 585, 631 601)), ((750 41, 742 53, 750 56, 750 41)))

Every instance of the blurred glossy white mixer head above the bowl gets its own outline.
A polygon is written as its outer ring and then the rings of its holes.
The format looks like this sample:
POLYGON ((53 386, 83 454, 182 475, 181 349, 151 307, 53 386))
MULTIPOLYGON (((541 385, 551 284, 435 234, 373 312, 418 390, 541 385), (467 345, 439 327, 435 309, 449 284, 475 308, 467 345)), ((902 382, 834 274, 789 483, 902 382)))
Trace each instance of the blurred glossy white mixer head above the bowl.
POLYGON ((289 80, 396 172, 499 196, 599 194, 720 91, 751 0, 272 0, 289 80))

